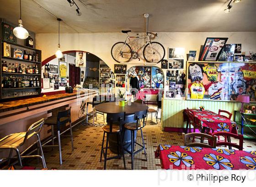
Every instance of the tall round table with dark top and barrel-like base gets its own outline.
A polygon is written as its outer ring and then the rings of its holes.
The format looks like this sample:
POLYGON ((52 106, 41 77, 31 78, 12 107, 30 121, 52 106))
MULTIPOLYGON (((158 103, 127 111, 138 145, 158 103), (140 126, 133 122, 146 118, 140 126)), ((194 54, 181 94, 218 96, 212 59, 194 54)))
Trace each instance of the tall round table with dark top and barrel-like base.
MULTIPOLYGON (((102 103, 95 106, 95 109, 99 112, 106 113, 106 114, 112 114, 112 113, 121 113, 125 112, 125 120, 123 121, 123 124, 130 123, 130 122, 136 122, 134 121, 134 113, 143 111, 148 109, 149 107, 145 104, 140 103, 131 103, 131 105, 128 105, 126 103, 125 106, 120 107, 118 103, 116 102, 109 102, 109 103, 102 103)), ((137 132, 134 133, 134 139, 136 140, 137 132)), ((124 137, 123 137, 123 144, 124 147, 131 151, 131 132, 130 130, 125 130, 124 137)), ((109 146, 110 150, 114 153, 117 153, 117 135, 109 135, 109 146)))

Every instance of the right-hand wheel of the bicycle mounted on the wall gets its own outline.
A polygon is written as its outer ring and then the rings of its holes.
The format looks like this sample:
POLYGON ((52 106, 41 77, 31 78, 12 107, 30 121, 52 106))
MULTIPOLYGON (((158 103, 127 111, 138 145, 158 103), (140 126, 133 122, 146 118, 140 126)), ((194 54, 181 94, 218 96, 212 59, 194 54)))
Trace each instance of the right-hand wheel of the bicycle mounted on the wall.
POLYGON ((150 42, 143 49, 143 57, 147 62, 158 63, 165 57, 165 48, 159 42, 150 42))

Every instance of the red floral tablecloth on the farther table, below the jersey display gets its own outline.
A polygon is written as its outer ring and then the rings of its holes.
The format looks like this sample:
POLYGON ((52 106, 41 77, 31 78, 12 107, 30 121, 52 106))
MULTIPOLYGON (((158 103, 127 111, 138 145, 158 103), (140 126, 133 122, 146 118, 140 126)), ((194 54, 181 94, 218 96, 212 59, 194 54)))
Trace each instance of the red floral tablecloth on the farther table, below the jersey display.
POLYGON ((197 119, 197 123, 202 127, 209 127, 218 132, 230 132, 237 134, 236 123, 230 119, 224 118, 209 110, 190 109, 197 119))

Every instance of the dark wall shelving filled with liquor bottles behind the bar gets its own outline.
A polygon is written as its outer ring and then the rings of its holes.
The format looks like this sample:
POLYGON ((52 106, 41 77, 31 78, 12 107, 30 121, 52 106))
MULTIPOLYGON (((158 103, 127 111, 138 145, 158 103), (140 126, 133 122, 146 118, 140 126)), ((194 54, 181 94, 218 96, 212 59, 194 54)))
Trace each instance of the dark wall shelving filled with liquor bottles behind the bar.
POLYGON ((41 94, 41 51, 0 40, 0 99, 41 94))

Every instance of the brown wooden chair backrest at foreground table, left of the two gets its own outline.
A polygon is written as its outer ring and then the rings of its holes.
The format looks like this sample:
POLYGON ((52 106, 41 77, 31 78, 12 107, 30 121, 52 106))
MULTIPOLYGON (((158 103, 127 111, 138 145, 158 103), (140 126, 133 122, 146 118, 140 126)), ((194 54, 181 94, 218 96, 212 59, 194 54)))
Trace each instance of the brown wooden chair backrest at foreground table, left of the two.
POLYGON ((182 133, 183 137, 183 144, 184 146, 189 146, 189 147, 208 147, 208 148, 215 148, 216 147, 216 140, 217 136, 212 136, 212 135, 207 135, 204 133, 182 133), (193 143, 187 143, 187 138, 191 137, 201 137, 201 138, 206 138, 208 139, 208 144, 205 143, 200 143, 200 142, 193 142, 193 143))

